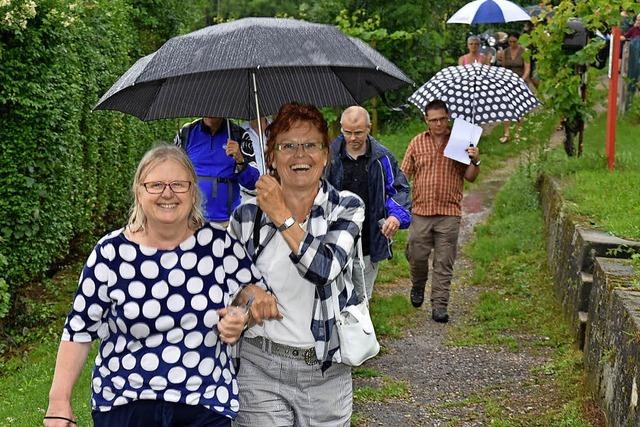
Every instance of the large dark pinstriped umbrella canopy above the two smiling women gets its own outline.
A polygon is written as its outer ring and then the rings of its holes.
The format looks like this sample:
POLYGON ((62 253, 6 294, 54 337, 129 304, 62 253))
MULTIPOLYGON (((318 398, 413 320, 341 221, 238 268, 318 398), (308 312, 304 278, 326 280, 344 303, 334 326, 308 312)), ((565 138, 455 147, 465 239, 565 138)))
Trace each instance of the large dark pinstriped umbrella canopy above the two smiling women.
POLYGON ((142 120, 251 119, 292 101, 360 104, 409 83, 380 53, 336 27, 245 18, 170 39, 139 59, 94 108, 142 120))

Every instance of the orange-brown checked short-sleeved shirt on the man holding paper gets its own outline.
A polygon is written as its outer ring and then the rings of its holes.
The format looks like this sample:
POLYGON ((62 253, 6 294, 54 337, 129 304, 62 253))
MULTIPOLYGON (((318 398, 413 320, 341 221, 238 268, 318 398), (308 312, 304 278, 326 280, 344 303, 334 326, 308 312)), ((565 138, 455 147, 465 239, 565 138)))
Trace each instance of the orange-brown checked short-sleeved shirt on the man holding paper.
POLYGON ((401 169, 413 181, 414 215, 462 215, 460 202, 467 165, 445 157, 445 146, 437 146, 428 131, 409 143, 401 169))

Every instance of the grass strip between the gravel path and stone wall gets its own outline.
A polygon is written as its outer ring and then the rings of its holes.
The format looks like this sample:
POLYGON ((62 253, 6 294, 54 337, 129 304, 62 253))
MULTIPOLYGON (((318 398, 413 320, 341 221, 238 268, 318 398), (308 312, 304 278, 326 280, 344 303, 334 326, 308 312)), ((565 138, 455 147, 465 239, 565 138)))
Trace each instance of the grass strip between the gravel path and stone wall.
POLYGON ((588 426, 582 407, 582 355, 562 319, 546 270, 543 222, 534 175, 520 168, 496 196, 486 224, 465 248, 474 262, 472 284, 480 287, 478 304, 467 323, 453 327, 452 345, 524 347, 550 352, 550 362, 534 372, 552 387, 532 388, 541 402, 530 412, 510 411, 513 396, 478 393, 492 426, 588 426), (545 349, 545 350, 542 350, 545 349), (537 394, 536 394, 537 393, 537 394))

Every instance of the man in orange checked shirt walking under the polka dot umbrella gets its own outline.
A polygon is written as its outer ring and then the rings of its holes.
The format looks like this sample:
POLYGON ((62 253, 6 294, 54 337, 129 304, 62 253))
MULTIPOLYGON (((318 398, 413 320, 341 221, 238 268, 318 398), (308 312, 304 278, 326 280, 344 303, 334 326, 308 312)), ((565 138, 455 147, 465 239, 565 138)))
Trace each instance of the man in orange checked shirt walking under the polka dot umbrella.
POLYGON ((480 172, 480 152, 478 147, 467 148, 469 165, 444 156, 450 130, 449 110, 443 101, 436 99, 427 104, 424 120, 428 130, 411 140, 401 166, 413 184, 413 218, 406 248, 411 270, 411 304, 420 307, 424 301, 433 250, 431 317, 446 323, 462 215, 462 190, 464 180, 473 182, 480 172))

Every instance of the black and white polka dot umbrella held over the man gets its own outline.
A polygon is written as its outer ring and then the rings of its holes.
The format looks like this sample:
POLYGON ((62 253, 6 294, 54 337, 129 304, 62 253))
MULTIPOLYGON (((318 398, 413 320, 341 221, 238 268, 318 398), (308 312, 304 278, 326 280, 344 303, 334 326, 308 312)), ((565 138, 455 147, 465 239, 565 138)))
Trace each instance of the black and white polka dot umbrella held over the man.
POLYGON ((452 118, 475 124, 518 121, 540 105, 516 73, 477 63, 438 71, 409 97, 409 102, 424 113, 434 99, 447 104, 452 118))

